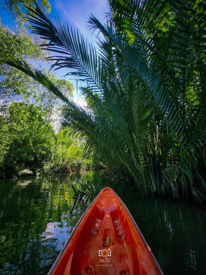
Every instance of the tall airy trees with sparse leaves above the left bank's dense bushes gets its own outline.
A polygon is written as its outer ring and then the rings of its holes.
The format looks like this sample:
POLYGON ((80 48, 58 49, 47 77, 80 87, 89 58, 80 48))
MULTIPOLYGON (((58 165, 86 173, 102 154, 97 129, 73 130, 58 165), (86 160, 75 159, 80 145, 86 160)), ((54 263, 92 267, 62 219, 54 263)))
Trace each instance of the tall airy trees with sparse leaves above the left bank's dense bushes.
MULTIPOLYGON (((6 55, 9 50, 9 54, 17 58, 24 58, 32 63, 42 63, 48 55, 40 49, 40 43, 41 40, 28 35, 24 28, 11 31, 0 25, 0 51, 2 55, 6 55)), ((53 71, 49 71, 46 66, 43 71, 64 95, 73 97, 74 86, 69 81, 57 79, 53 71)), ((60 116, 59 110, 62 108, 62 102, 28 75, 6 64, 0 64, 0 75, 0 113, 5 118, 3 123, 6 122, 6 109, 9 104, 18 100, 25 100, 27 103, 32 101, 36 105, 42 106, 42 109, 47 111, 47 120, 52 118, 55 120, 60 116)))

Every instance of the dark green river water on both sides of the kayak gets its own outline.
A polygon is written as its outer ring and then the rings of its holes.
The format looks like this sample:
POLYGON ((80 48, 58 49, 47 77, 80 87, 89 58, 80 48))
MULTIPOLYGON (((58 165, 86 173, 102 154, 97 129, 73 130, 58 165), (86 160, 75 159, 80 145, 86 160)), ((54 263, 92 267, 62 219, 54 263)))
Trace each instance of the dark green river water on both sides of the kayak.
POLYGON ((110 182, 104 171, 0 182, 0 274, 47 273, 92 199, 83 203, 83 197, 74 206, 72 184, 78 189, 79 182, 116 191, 164 274, 206 274, 205 207, 138 197, 110 182))

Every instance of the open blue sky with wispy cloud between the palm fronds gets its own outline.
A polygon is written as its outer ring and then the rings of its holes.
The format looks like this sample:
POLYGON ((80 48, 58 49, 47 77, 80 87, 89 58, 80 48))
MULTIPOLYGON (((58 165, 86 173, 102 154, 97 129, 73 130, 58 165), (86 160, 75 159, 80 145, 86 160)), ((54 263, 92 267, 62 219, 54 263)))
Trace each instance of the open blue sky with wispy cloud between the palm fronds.
MULTIPOLYGON (((62 20, 68 21, 69 25, 78 28, 89 42, 95 43, 95 35, 92 35, 92 31, 88 30, 87 20, 92 13, 101 23, 105 22, 105 12, 108 10, 107 0, 50 0, 51 4, 51 16, 58 15, 62 20)), ((4 26, 8 26, 13 29, 17 25, 13 17, 9 15, 6 10, 2 9, 0 5, 0 17, 1 23, 4 26)), ((65 69, 66 70, 66 69, 65 69)), ((57 70, 56 75, 61 78, 66 74, 66 71, 57 70)), ((74 101, 83 105, 83 99, 79 98, 79 93, 76 90, 75 79, 68 79, 75 87, 74 101)))

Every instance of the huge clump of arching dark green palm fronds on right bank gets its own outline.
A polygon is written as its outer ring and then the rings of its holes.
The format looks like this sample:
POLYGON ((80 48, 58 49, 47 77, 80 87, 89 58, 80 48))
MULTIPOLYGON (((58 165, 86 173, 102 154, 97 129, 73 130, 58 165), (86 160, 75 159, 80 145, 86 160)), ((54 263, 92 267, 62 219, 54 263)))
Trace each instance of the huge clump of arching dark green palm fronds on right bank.
POLYGON ((81 108, 26 61, 6 53, 12 65, 65 103, 61 126, 110 170, 147 195, 205 193, 206 1, 109 0, 107 24, 90 17, 99 40, 88 44, 38 5, 29 10, 35 34, 53 52, 56 69, 81 82, 81 108), (99 35, 101 33, 101 35, 99 35), (49 42, 47 42, 49 40, 49 42))

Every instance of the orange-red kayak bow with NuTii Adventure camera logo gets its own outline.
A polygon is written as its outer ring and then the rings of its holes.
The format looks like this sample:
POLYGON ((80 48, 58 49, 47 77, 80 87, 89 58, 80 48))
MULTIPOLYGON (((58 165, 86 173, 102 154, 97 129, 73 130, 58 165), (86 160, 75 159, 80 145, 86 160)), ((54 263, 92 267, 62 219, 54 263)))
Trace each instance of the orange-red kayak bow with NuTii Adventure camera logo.
POLYGON ((86 209, 48 274, 163 274, 126 205, 105 188, 86 209))

